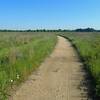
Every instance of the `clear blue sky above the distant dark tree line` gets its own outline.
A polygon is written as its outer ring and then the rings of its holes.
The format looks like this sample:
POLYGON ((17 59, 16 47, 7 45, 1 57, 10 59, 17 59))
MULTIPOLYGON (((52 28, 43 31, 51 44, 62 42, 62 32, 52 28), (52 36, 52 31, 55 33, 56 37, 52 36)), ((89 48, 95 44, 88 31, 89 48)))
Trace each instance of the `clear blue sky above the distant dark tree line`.
POLYGON ((0 0, 0 29, 100 29, 100 0, 0 0))

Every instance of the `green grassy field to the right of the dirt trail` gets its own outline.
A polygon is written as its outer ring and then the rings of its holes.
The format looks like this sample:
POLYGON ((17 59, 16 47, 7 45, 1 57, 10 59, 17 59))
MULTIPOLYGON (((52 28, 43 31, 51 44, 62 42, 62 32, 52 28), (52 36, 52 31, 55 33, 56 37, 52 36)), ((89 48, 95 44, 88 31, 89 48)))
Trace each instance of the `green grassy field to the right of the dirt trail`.
POLYGON ((96 95, 100 97, 100 33, 63 33, 76 46, 86 69, 94 79, 96 95))

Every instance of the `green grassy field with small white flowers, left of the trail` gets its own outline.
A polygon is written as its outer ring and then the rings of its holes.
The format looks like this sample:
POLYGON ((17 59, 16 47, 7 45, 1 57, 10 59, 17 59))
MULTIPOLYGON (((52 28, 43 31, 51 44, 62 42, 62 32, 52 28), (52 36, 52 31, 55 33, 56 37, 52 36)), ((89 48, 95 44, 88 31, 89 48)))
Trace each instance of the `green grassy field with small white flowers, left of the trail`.
POLYGON ((0 100, 27 79, 56 44, 50 33, 0 32, 0 100))

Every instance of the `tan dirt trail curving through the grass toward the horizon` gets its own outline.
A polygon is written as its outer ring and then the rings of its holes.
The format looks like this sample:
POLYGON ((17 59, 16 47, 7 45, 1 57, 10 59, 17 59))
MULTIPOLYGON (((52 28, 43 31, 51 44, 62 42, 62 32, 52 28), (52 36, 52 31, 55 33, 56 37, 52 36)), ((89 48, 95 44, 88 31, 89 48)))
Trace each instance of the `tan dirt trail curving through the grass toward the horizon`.
POLYGON ((10 100, 87 100, 85 72, 70 42, 58 36, 53 53, 10 100))

